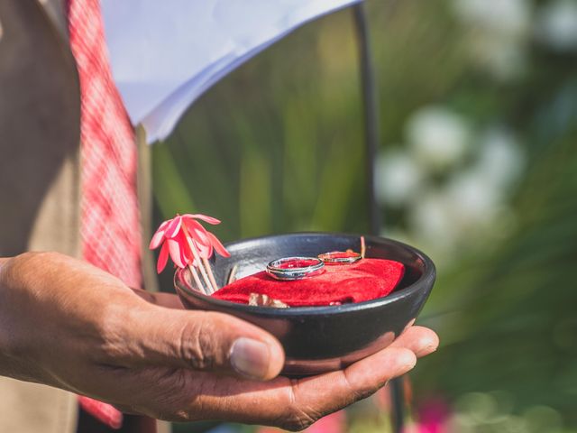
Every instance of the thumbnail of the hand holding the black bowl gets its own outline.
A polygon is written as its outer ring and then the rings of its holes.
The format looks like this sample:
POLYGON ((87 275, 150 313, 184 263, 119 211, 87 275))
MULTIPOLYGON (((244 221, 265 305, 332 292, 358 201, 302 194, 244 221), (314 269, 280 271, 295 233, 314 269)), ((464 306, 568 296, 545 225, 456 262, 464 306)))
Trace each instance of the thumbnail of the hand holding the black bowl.
POLYGON ((236 373, 251 379, 264 379, 269 370, 269 346, 251 338, 241 337, 231 348, 231 364, 236 373))

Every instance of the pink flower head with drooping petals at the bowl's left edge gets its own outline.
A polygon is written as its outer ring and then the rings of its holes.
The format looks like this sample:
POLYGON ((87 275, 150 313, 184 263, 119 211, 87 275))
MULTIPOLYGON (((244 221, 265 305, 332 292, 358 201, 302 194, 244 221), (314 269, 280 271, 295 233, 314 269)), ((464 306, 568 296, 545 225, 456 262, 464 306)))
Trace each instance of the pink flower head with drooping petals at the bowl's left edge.
POLYGON ((197 219, 205 221, 208 224, 220 224, 220 221, 213 217, 207 217, 202 214, 185 214, 164 221, 156 233, 152 236, 149 248, 154 250, 162 244, 160 249, 159 261, 156 264, 156 271, 162 272, 169 260, 179 266, 186 268, 189 264, 199 266, 195 260, 195 254, 192 248, 196 248, 198 256, 202 259, 212 257, 214 251, 223 257, 230 257, 223 244, 215 235, 206 231, 206 228, 197 222, 197 219))

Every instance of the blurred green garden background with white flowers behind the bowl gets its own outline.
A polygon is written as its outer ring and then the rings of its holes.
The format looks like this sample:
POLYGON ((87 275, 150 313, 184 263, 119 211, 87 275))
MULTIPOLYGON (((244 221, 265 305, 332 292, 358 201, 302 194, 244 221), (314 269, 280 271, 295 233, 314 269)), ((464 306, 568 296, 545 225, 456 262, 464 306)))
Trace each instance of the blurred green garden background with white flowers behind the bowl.
MULTIPOLYGON (((577 0, 366 7, 382 235, 438 268, 418 323, 442 345, 405 381, 407 431, 577 432, 577 0)), ((201 97, 153 146, 157 222, 206 213, 224 241, 366 233, 357 48, 343 10, 201 97)), ((391 431, 387 395, 313 428, 391 431)))

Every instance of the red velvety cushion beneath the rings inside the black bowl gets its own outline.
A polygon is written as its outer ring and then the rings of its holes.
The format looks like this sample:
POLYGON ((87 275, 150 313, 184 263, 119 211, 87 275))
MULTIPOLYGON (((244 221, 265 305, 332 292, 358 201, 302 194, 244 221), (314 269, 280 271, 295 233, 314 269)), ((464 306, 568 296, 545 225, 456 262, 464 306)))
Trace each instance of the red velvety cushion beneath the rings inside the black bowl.
POLYGON ((258 272, 224 286, 213 296, 248 304, 251 293, 261 293, 290 307, 362 302, 387 296, 404 273, 403 263, 362 259, 353 264, 327 265, 323 274, 297 281, 278 281, 258 272))

